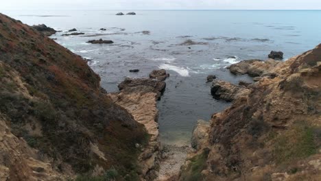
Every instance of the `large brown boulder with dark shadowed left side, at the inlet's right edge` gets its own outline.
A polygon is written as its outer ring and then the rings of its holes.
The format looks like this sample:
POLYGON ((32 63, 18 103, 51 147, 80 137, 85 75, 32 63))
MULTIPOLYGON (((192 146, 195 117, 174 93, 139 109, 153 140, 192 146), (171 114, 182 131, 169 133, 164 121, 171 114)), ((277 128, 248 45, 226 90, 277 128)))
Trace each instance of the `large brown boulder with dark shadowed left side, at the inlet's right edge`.
POLYGON ((211 95, 215 99, 223 99, 225 101, 233 101, 239 97, 246 97, 250 93, 248 88, 235 86, 230 82, 223 80, 215 80, 211 86, 211 95))

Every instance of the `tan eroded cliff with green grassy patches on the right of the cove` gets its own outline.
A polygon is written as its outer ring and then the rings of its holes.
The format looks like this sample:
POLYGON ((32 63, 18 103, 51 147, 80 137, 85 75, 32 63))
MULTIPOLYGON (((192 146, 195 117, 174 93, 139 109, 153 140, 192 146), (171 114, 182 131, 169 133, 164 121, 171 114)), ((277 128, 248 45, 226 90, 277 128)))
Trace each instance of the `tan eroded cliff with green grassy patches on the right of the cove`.
POLYGON ((213 82, 226 89, 217 98, 233 93, 233 104, 213 114, 180 180, 321 180, 321 45, 285 62, 231 68, 258 82, 237 86, 242 94, 213 82))

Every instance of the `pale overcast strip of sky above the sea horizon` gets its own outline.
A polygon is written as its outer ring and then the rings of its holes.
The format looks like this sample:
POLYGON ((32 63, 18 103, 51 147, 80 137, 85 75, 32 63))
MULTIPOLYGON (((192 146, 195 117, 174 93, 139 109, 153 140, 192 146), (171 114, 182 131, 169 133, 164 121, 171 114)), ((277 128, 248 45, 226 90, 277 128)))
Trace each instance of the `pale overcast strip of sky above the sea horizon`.
POLYGON ((321 0, 2 0, 1 10, 321 10, 321 0))

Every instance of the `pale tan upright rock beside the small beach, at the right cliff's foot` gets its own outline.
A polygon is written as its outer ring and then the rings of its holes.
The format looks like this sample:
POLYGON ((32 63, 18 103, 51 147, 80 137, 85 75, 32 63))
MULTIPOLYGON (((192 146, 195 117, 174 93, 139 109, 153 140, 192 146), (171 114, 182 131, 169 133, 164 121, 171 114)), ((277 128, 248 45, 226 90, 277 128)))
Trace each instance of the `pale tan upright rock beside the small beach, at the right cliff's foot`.
POLYGON ((191 138, 191 147, 194 149, 201 149, 209 139, 209 129, 211 124, 209 121, 198 120, 193 130, 193 135, 191 138))

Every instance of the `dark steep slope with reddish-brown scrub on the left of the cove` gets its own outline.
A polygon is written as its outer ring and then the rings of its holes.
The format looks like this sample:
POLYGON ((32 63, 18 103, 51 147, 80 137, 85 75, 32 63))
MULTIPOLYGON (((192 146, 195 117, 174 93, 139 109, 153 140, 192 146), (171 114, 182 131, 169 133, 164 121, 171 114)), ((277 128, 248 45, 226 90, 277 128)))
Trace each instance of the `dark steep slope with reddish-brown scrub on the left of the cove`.
POLYGON ((3 14, 0 82, 1 180, 139 180, 144 126, 80 56, 3 14))

